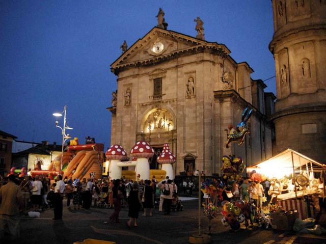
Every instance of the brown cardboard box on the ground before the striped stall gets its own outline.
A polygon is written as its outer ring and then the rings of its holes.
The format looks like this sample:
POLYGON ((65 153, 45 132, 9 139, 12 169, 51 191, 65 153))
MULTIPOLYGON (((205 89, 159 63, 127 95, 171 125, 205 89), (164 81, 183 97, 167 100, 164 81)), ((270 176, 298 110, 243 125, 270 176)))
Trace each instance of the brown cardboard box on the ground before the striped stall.
POLYGON ((299 218, 297 212, 292 214, 284 214, 284 212, 272 212, 270 213, 271 228, 277 230, 289 231, 292 230, 295 219, 299 218))

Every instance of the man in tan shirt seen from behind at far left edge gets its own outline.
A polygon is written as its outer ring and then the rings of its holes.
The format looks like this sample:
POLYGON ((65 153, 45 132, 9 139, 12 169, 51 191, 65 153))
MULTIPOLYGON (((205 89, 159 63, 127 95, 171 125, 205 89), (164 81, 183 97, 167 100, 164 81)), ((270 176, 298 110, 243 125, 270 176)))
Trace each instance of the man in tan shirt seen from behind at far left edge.
POLYGON ((20 187, 15 184, 15 180, 15 175, 9 175, 8 183, 0 188, 0 240, 5 232, 9 232, 11 239, 20 236, 19 207, 23 206, 23 200, 20 187))

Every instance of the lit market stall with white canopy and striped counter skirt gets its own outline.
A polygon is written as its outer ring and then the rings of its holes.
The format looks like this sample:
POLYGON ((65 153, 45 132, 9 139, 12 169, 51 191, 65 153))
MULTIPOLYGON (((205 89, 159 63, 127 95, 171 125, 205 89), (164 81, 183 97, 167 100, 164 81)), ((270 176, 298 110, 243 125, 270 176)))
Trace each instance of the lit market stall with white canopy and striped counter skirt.
POLYGON ((324 197, 325 166, 301 153, 287 149, 278 155, 247 168, 248 174, 261 174, 275 180, 280 194, 277 203, 285 210, 297 210, 301 219, 313 215, 310 202, 324 197), (321 181, 318 181, 321 178, 321 181), (286 187, 285 187, 285 186, 286 187))

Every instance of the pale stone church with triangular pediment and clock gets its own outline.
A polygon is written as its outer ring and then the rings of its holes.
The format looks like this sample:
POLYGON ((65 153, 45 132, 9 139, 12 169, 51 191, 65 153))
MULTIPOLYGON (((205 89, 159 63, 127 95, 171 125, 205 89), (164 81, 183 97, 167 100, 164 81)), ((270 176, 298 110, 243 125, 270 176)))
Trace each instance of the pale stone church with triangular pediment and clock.
MULTIPOLYGON (((231 58, 226 45, 203 39, 155 27, 123 48, 111 65, 118 84, 107 108, 111 144, 130 153, 139 140, 157 152, 169 143, 176 175, 195 169, 221 175, 223 155, 241 156, 247 165, 272 156, 273 124, 267 118, 276 97, 251 78, 249 64, 231 58), (240 122, 247 106, 253 108, 251 133, 242 146, 226 148, 225 129, 240 122)), ((150 160, 151 169, 157 168, 150 160)))

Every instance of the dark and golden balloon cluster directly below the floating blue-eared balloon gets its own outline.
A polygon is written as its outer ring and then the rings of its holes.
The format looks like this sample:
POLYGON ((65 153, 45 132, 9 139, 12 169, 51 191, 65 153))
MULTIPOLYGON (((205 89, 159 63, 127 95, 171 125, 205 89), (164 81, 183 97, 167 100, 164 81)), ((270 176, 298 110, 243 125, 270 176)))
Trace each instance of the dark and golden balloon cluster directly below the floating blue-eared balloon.
POLYGON ((244 170, 244 167, 246 166, 246 164, 244 164, 242 161, 242 158, 236 157, 235 155, 224 155, 222 157, 222 162, 224 180, 228 180, 229 178, 232 180, 238 180, 244 170))

